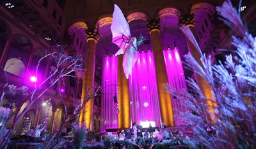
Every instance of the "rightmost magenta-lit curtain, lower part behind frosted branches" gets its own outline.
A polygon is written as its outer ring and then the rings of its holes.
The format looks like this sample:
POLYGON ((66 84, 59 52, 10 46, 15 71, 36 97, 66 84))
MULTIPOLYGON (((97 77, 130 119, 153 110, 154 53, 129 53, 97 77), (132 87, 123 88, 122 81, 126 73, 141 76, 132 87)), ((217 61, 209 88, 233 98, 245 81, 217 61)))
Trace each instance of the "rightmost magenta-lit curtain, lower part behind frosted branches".
MULTIPOLYGON (((184 76, 182 63, 180 61, 179 49, 168 49, 166 51, 163 51, 163 54, 170 88, 175 88, 175 90, 177 90, 178 93, 180 93, 180 90, 182 89, 186 90, 186 80, 184 76)), ((180 105, 179 98, 176 98, 173 95, 172 107, 174 116, 178 115, 183 110, 182 106, 180 105)), ((175 125, 182 125, 182 119, 175 118, 175 125)))

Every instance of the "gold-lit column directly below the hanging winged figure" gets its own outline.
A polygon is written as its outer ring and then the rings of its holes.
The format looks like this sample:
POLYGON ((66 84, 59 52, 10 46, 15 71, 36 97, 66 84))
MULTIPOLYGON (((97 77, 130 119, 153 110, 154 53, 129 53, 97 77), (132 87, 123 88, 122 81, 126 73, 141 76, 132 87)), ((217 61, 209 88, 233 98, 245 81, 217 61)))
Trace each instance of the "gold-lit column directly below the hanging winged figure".
POLYGON ((123 69, 124 55, 118 56, 118 128, 128 129, 130 127, 130 99, 129 99, 129 82, 126 79, 123 69))

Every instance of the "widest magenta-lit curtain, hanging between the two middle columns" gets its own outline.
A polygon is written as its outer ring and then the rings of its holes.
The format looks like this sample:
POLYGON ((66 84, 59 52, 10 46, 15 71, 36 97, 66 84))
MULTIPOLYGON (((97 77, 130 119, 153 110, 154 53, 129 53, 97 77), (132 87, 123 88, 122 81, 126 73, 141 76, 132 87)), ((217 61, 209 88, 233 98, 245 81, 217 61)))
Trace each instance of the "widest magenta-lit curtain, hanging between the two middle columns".
POLYGON ((160 126, 156 70, 152 52, 138 53, 129 77, 131 123, 156 122, 160 126))

